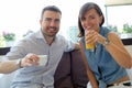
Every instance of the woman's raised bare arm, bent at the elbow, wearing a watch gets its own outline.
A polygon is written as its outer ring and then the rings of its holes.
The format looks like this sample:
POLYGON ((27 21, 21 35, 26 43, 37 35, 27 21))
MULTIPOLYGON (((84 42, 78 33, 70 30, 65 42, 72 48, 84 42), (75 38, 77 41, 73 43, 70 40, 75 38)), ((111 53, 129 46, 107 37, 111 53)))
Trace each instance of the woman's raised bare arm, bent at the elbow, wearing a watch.
MULTIPOLYGON (((105 41, 107 40, 106 37, 101 36, 100 34, 97 34, 96 38, 97 38, 96 42, 98 42, 100 44, 105 44, 105 41)), ((113 59, 116 59, 120 66, 122 66, 124 68, 131 68, 132 67, 132 57, 129 54, 129 52, 125 50, 120 37, 116 33, 110 32, 108 34, 108 40, 109 40, 109 44, 105 45, 105 47, 111 54, 113 59)))

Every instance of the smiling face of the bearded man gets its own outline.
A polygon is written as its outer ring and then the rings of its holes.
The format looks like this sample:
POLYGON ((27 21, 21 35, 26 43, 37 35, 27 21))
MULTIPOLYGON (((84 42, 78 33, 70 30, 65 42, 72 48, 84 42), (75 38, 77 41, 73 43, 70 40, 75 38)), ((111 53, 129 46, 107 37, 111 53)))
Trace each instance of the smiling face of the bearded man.
POLYGON ((59 31, 62 14, 55 11, 45 11, 40 20, 42 32, 45 36, 54 37, 59 31))

